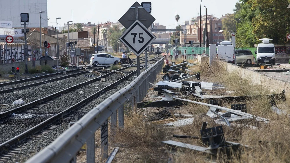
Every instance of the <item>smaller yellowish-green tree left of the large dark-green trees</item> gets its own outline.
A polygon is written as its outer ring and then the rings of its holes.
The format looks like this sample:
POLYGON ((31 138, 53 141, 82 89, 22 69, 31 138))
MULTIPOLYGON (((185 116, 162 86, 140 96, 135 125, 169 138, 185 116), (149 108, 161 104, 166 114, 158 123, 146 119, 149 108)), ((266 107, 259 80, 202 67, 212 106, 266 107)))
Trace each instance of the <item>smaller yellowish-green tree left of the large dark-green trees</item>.
POLYGON ((227 14, 227 17, 222 19, 222 30, 224 39, 228 39, 231 36, 231 32, 236 32, 236 21, 235 21, 235 14, 227 14))

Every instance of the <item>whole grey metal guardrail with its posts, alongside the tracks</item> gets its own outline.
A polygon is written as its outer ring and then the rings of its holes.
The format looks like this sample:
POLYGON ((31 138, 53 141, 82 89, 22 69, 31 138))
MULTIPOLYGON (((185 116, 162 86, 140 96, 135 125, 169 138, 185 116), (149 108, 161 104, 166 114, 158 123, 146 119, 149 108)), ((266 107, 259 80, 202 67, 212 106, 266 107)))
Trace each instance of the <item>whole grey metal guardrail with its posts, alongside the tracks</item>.
POLYGON ((111 134, 116 134, 117 109, 120 128, 124 128, 124 103, 131 108, 137 105, 147 93, 156 75, 162 71, 164 58, 142 72, 129 85, 93 108, 72 127, 61 134, 45 149, 31 157, 27 163, 76 162, 76 154, 87 142, 87 162, 95 162, 95 132, 101 127, 102 159, 108 158, 108 118, 111 117, 111 134))

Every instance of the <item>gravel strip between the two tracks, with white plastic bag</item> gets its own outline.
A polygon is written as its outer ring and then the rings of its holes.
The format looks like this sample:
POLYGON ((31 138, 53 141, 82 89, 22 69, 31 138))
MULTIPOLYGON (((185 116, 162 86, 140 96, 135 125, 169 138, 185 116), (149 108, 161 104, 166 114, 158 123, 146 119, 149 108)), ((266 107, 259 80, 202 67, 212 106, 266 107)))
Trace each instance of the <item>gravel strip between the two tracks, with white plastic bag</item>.
MULTIPOLYGON (((91 73, 87 73, 87 75, 89 74, 91 73)), ((0 113, 13 109, 15 107, 21 106, 21 104, 12 105, 13 101, 19 100, 20 98, 22 98, 22 100, 25 103, 29 103, 29 102, 38 100, 40 98, 43 98, 45 96, 48 96, 50 94, 53 94, 55 92, 61 91, 65 88, 72 87, 73 85, 83 83, 90 79, 93 79, 93 78, 84 77, 84 74, 83 74, 83 75, 75 76, 75 77, 64 79, 64 80, 58 80, 58 81, 51 82, 48 84, 37 85, 35 87, 30 87, 27 89, 22 89, 22 90, 17 90, 17 91, 1 94, 0 95, 0 113)))

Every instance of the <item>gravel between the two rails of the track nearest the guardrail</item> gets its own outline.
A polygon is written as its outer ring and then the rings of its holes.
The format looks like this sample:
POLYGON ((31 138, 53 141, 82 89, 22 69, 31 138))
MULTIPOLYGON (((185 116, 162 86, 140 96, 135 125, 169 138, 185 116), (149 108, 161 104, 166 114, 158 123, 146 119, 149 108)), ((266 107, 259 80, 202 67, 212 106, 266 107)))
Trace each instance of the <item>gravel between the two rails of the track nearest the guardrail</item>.
POLYGON ((106 77, 106 82, 97 81, 94 83, 90 83, 89 85, 85 85, 74 91, 70 91, 66 94, 63 94, 62 96, 58 97, 57 100, 54 100, 53 102, 47 102, 48 104, 42 106, 41 109, 32 109, 31 111, 29 111, 28 114, 17 113, 17 115, 14 116, 15 118, 16 117, 20 117, 20 118, 13 119, 2 124, 0 121, 0 144, 5 142, 6 140, 13 138, 14 136, 17 136, 19 132, 22 133, 26 131, 27 129, 45 120, 45 119, 39 119, 39 116, 43 117, 43 116, 46 116, 47 114, 50 114, 52 116, 56 113, 64 111, 65 109, 75 105, 77 102, 81 101, 82 99, 90 96, 91 94, 94 94, 95 92, 99 91, 100 89, 106 87, 107 85, 111 83, 114 83, 115 81, 117 81, 117 79, 120 79, 122 77, 123 75, 121 74, 110 75, 106 77), (81 91, 83 93, 80 93, 81 91), (23 119, 22 119, 23 117, 26 118, 26 124, 24 125, 25 127, 18 128, 18 126, 23 125, 23 119), (17 128, 17 130, 14 130, 15 128, 17 128))

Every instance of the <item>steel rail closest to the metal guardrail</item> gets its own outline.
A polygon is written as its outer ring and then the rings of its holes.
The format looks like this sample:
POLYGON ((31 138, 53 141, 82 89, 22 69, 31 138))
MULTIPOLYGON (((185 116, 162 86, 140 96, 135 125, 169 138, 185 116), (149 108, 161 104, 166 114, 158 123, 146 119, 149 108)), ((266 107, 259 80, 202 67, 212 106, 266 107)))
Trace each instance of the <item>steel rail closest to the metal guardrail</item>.
POLYGON ((110 90, 112 87, 116 86, 117 84, 121 83, 122 81, 128 79, 129 77, 131 77, 134 73, 136 73, 137 70, 131 72, 130 74, 128 75, 125 75, 124 77, 122 77, 121 79, 117 80, 116 82, 100 89, 99 91, 97 91, 96 93, 88 96, 87 98, 79 101, 78 103, 76 103, 75 105, 67 108, 66 110, 48 118, 47 120, 37 124, 36 126, 24 131, 23 133, 15 136, 14 138, 6 141, 6 142, 3 142, 2 144, 0 144, 0 151, 1 150, 7 150, 7 148, 9 148, 10 146, 13 146, 14 144, 24 140, 25 138, 27 138, 28 136, 30 135, 33 135, 35 133, 37 133, 39 130, 45 128, 46 126, 48 126, 49 124, 55 122, 56 120, 60 119, 60 118, 63 118, 64 116, 68 115, 70 112, 78 109, 79 107, 82 107, 83 105, 85 105, 86 103, 94 100, 97 96, 99 96, 100 94, 103 94, 105 93, 106 91, 110 90))

